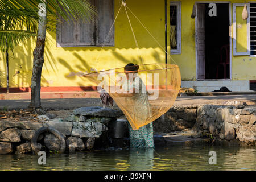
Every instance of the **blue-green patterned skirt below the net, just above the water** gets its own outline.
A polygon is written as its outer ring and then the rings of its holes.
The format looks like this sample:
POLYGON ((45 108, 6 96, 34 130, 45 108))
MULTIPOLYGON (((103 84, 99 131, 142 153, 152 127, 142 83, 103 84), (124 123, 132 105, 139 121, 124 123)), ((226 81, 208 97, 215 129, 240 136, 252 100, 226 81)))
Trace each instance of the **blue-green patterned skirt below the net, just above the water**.
POLYGON ((130 148, 155 148, 152 122, 139 130, 130 126, 130 148))

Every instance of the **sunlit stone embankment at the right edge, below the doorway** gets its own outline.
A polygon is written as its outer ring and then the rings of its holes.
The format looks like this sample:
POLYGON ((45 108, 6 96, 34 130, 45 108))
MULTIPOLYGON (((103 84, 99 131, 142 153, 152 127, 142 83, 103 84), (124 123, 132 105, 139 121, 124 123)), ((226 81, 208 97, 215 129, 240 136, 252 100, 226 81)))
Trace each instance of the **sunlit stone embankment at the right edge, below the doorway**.
POLYGON ((255 144, 256 107, 200 106, 193 130, 208 133, 216 143, 255 144))

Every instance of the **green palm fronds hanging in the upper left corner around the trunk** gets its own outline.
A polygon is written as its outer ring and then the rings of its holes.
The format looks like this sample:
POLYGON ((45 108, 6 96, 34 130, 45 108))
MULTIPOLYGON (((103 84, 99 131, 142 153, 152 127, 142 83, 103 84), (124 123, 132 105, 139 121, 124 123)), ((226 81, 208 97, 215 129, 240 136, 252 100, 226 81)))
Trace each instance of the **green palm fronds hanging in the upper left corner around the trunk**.
POLYGON ((60 17, 69 20, 94 20, 96 9, 88 0, 0 0, 0 50, 13 49, 38 32, 38 5, 46 3, 47 30, 56 31, 60 17))

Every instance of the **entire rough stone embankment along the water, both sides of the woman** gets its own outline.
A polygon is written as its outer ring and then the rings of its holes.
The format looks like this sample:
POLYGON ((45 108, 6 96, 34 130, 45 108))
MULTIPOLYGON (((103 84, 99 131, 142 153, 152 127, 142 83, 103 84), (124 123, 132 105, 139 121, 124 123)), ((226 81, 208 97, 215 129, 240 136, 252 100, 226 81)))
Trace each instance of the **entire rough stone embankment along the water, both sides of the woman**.
MULTIPOLYGON (((0 154, 32 152, 31 138, 41 127, 49 126, 64 135, 67 151, 90 150, 94 142, 105 147, 111 143, 109 123, 121 117, 120 110, 84 107, 73 111, 73 121, 16 122, 0 121, 0 154), (106 145, 104 146, 104 142, 106 145)), ((214 144, 256 145, 256 107, 232 105, 174 106, 154 123, 154 133, 193 131, 214 144), (240 109, 238 109, 240 108, 240 109)), ((125 137, 129 137, 126 123, 125 137)), ((60 148, 52 134, 43 134, 39 142, 51 151, 60 148)), ((112 141, 112 143, 114 143, 112 141)))

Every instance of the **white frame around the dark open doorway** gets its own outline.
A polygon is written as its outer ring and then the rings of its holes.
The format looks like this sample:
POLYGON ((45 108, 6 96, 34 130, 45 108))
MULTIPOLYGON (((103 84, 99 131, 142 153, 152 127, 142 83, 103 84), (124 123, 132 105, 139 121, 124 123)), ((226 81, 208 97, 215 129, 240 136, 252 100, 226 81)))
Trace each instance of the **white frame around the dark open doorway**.
MULTIPOLYGON (((196 14, 197 14, 197 3, 227 3, 229 4, 229 79, 210 79, 210 80, 232 80, 232 6, 230 1, 196 1, 196 14)), ((198 61, 197 61, 197 16, 195 21, 195 40, 196 40, 196 80, 202 80, 198 78, 198 61)), ((203 79, 209 80, 209 79, 203 79)))

